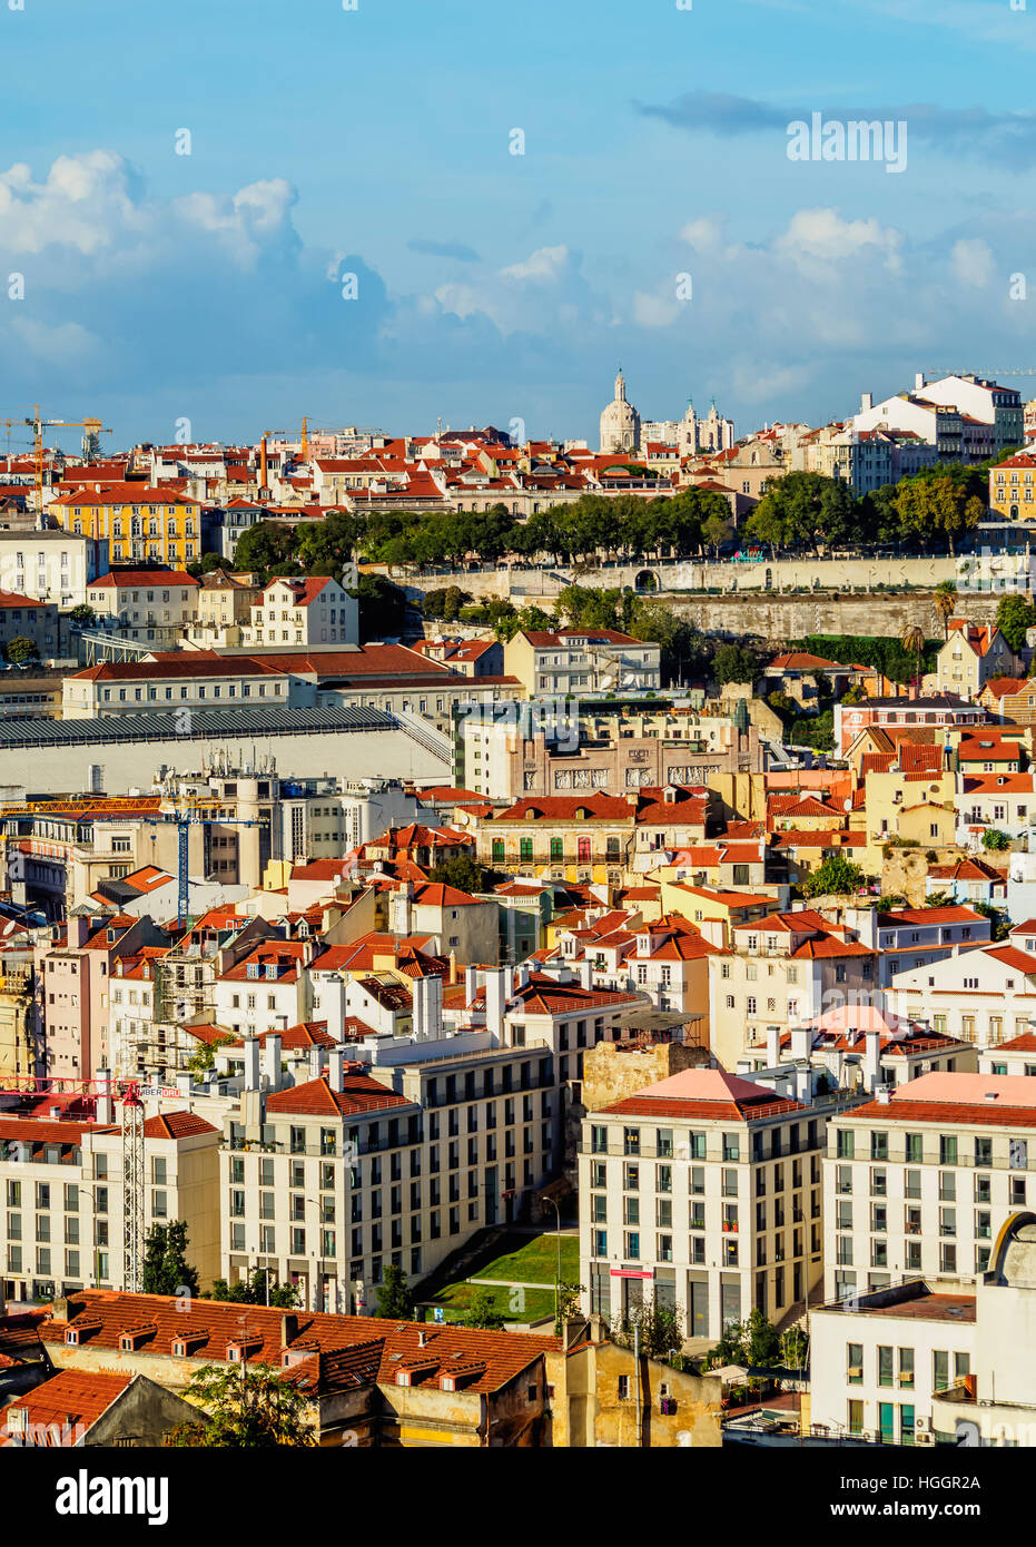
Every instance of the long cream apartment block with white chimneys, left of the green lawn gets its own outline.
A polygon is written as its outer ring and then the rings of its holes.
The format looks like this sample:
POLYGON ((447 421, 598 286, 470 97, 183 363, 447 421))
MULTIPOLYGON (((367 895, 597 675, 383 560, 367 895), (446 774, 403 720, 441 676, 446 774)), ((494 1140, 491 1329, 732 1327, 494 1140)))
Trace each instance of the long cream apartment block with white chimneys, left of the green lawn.
POLYGON ((269 1265, 306 1307, 370 1313, 388 1264, 427 1275, 552 1174, 547 1046, 435 1038, 421 1018, 414 1040, 373 1043, 329 1060, 314 1047, 311 1078, 278 1089, 280 1038, 264 1040, 264 1075, 246 1041, 243 1108, 221 1149, 227 1278, 269 1265))

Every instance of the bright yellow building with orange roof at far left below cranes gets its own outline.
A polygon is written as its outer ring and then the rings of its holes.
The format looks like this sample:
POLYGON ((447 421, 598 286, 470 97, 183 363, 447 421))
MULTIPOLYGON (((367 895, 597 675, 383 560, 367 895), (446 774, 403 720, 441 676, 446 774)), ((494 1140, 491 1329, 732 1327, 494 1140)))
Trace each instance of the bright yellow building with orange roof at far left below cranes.
POLYGON ((46 512, 68 532, 107 538, 113 565, 179 566, 201 558, 201 501, 175 489, 105 483, 59 493, 46 512))

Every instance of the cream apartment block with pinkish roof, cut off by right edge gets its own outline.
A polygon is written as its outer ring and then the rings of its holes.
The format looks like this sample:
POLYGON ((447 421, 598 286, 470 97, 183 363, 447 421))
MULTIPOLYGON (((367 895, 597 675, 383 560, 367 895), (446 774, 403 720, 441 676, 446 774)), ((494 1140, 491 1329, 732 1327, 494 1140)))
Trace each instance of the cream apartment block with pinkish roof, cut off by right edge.
POLYGON ((1036 1081, 928 1074, 833 1117, 824 1162, 824 1293, 901 1275, 970 1282, 1033 1196, 1036 1081))

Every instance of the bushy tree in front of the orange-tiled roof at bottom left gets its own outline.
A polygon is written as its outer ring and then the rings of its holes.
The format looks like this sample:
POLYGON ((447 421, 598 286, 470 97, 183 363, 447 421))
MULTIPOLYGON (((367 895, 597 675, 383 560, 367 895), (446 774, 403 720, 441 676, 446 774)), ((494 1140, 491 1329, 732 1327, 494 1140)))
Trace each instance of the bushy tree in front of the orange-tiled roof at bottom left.
POLYGON ((184 1395, 203 1411, 173 1431, 170 1445, 269 1450, 317 1443, 309 1395, 269 1364, 206 1364, 192 1375, 184 1395))

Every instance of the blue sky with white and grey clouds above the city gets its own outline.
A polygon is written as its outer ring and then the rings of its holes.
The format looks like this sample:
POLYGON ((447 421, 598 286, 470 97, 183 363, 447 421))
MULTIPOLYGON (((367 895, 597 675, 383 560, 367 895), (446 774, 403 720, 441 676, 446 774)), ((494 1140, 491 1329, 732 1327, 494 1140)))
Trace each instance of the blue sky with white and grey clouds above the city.
POLYGON ((1036 0, 23 6, 0 416, 594 438, 622 360, 747 430, 1036 364, 1036 0), (812 111, 906 121, 906 170, 789 161, 812 111))

